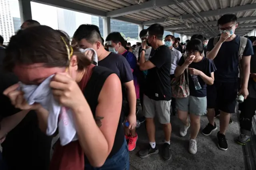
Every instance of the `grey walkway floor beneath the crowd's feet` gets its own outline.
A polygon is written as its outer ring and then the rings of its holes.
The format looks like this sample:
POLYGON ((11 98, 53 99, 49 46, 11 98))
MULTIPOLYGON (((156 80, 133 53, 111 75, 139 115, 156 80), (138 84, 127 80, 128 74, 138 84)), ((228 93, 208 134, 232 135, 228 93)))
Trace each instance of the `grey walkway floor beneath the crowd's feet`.
MULTIPOLYGON (((228 150, 222 151, 216 145, 216 134, 210 136, 198 134, 198 152, 192 155, 188 152, 188 136, 180 137, 180 121, 177 117, 171 117, 172 137, 171 149, 172 159, 162 160, 160 155, 152 155, 148 158, 139 158, 137 153, 140 148, 148 144, 146 129, 144 124, 138 128, 138 142, 134 151, 130 152, 130 166, 132 170, 244 170, 244 158, 242 146, 235 143, 234 139, 238 136, 238 122, 236 114, 232 115, 234 124, 229 125, 226 132, 228 139, 228 150)), ((157 122, 157 120, 156 120, 157 122)), ((207 118, 201 118, 201 130, 207 125, 207 118)), ((219 120, 216 119, 219 125, 219 120)), ((164 140, 162 127, 156 124, 156 142, 161 144, 164 140)), ((160 148, 161 146, 159 146, 160 148)), ((161 150, 160 150, 161 151, 161 150)))

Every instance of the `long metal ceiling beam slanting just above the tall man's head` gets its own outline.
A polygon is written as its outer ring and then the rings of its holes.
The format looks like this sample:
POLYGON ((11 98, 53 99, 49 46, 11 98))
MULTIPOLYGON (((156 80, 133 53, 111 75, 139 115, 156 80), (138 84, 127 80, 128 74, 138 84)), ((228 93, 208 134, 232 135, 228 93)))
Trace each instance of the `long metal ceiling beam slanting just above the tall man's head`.
MULTIPOLYGON (((210 10, 210 11, 203 11, 199 12, 200 16, 202 17, 210 17, 210 16, 216 16, 218 15, 223 15, 223 14, 228 14, 228 13, 238 13, 238 12, 244 12, 244 11, 250 11, 250 10, 255 10, 256 9, 256 4, 248 4, 248 5, 242 5, 242 6, 236 6, 232 8, 223 8, 223 9, 218 9, 218 10, 210 10)), ((176 18, 180 18, 182 20, 188 20, 194 18, 191 14, 186 14, 186 15, 181 15, 181 16, 174 16, 176 18)), ((150 21, 144 21, 143 25, 151 25, 155 23, 161 23, 165 22, 166 18, 160 18, 156 20, 150 20, 150 21)))

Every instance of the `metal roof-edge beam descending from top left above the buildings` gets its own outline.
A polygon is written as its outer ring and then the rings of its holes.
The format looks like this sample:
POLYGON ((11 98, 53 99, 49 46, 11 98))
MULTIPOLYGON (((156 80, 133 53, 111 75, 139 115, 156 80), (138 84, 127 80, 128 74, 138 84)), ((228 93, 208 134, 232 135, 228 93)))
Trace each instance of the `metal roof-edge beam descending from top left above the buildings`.
MULTIPOLYGON (((72 11, 76 11, 76 12, 82 12, 85 14, 106 17, 106 12, 104 12, 102 10, 97 10, 94 8, 90 8, 88 6, 84 6, 84 5, 66 1, 66 0, 31 0, 31 1, 38 2, 40 4, 56 6, 59 8, 64 8, 64 9, 72 10, 72 11)), ((140 22, 138 20, 133 20, 131 18, 127 18, 127 17, 123 17, 123 16, 117 17, 114 19, 124 21, 124 22, 131 22, 131 23, 139 24, 139 25, 142 24, 142 22, 140 22)))

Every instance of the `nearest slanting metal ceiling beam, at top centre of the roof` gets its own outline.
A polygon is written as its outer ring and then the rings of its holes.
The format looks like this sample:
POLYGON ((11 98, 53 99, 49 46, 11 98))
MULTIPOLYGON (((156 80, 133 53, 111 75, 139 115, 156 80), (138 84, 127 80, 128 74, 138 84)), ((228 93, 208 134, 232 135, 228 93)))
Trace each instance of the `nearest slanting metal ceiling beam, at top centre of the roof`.
MULTIPOLYGON (((178 1, 182 2, 182 0, 178 0, 178 1)), ((145 11, 145 10, 151 10, 156 8, 156 6, 162 7, 162 6, 172 5, 172 4, 176 4, 176 2, 174 2, 174 0, 150 0, 147 2, 143 2, 143 3, 141 2, 139 4, 135 4, 135 5, 127 6, 117 10, 106 12, 106 16, 114 18, 118 16, 124 16, 128 14, 136 13, 136 12, 145 11)))

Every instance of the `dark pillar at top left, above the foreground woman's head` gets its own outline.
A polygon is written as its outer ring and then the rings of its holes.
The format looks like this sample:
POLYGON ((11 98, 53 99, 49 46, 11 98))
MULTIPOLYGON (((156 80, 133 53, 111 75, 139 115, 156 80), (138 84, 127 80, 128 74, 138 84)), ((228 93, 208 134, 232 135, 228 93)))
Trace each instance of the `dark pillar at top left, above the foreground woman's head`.
POLYGON ((32 19, 30 0, 19 0, 20 6, 20 22, 32 19))

